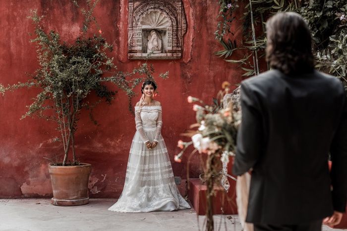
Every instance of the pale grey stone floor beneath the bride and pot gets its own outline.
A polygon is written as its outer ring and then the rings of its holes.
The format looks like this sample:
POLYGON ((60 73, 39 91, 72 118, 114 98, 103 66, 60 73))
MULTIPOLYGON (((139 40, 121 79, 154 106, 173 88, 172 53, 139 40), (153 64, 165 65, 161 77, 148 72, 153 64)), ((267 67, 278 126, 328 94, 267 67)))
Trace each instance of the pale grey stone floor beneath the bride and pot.
MULTIPOLYGON (((204 230, 205 217, 197 217, 193 209, 132 214, 108 211, 115 201, 91 199, 87 205, 59 207, 51 205, 50 199, 0 199, 0 231, 204 230)), ((216 231, 241 231, 237 215, 215 216, 215 227, 216 231)))

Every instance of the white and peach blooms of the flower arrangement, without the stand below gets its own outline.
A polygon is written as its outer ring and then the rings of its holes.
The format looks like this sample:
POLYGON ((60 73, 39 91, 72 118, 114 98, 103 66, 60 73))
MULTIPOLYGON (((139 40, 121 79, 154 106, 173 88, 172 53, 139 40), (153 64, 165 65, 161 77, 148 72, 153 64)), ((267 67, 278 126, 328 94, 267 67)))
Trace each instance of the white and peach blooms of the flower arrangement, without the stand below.
POLYGON ((224 159, 233 156, 235 149, 235 139, 237 128, 241 122, 240 112, 232 109, 232 102, 223 108, 223 97, 229 93, 228 82, 224 82, 217 98, 214 98, 214 105, 207 105, 199 98, 188 96, 187 101, 194 103, 193 111, 196 112, 196 122, 190 128, 197 128, 183 134, 191 137, 191 141, 184 142, 178 140, 177 146, 182 151, 174 156, 176 162, 181 162, 184 151, 193 144, 194 151, 206 153, 208 155, 222 154, 224 159))

